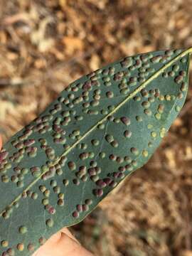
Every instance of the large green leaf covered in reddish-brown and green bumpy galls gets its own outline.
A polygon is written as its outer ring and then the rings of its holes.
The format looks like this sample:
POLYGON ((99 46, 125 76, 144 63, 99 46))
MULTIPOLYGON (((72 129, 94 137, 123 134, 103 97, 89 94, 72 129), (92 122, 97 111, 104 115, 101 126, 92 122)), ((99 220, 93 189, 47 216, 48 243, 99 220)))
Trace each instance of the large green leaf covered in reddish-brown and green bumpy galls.
POLYGON ((190 53, 143 53, 85 75, 6 143, 1 255, 31 255, 149 160, 186 99, 190 53))

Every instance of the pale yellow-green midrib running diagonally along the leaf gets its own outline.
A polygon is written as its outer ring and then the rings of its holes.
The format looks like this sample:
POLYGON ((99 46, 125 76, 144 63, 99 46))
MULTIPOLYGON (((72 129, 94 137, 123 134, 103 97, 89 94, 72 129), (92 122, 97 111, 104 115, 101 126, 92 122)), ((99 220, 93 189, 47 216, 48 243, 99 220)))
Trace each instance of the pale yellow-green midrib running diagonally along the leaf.
MULTIPOLYGON (((80 139, 78 139, 76 142, 74 142, 69 149, 67 149, 63 154, 61 154, 60 156, 58 156, 57 159, 55 159, 55 161, 53 161, 49 166, 54 166, 55 164, 58 164, 58 161, 60 161, 61 157, 66 156, 71 150, 73 150, 75 148, 75 146, 77 146, 83 139, 85 139, 85 137, 87 137, 92 131, 94 131, 97 126, 99 124, 102 124, 103 122, 106 121, 107 117, 110 117, 112 114, 114 114, 115 112, 117 112, 117 110, 119 110, 120 107, 122 107, 126 102, 128 102, 130 99, 132 99, 135 95, 137 95, 138 92, 140 92, 142 89, 144 89, 146 87, 146 85, 148 85, 151 81, 153 81, 155 78, 157 78, 159 75, 161 75, 161 73, 164 72, 164 70, 166 70, 166 68, 169 68, 173 63, 175 63, 179 58, 184 57, 187 54, 191 54, 192 53, 192 47, 188 48, 187 50, 184 50, 183 52, 179 53, 175 58, 173 58, 172 60, 169 61, 169 63, 166 63, 162 68, 159 68, 159 70, 156 71, 156 73, 154 73, 153 75, 151 75, 150 78, 148 78, 148 80, 142 82, 141 85, 139 85, 139 87, 137 87, 136 90, 134 90, 133 92, 131 92, 124 100, 122 100, 122 102, 120 102, 116 107, 114 107, 114 110, 112 110, 110 113, 108 113, 105 117, 103 117, 102 119, 100 119, 100 121, 98 121, 95 125, 93 125, 87 132, 85 132, 85 134, 82 135, 82 137, 80 137, 80 139)), ((34 181, 32 181, 15 199, 14 201, 12 201, 9 206, 6 207, 11 207, 16 201, 18 201, 22 194, 25 193, 26 191, 28 191, 29 188, 31 188, 40 178, 41 176, 43 176, 43 174, 46 174, 46 171, 43 171, 43 173, 38 176, 38 178, 36 178, 34 181)), ((5 207, 5 208, 6 208, 5 207)), ((0 216, 4 213, 4 210, 1 211, 0 216)))

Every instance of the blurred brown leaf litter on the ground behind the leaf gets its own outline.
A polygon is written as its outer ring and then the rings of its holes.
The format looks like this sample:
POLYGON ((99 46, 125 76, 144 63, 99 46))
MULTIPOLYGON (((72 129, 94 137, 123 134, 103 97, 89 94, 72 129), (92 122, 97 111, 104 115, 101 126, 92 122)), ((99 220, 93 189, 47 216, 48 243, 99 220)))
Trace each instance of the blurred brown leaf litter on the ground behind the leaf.
MULTIPOLYGON (((191 0, 0 0, 4 142, 70 82, 134 53, 192 46, 191 0)), ((191 78, 190 78, 191 83, 191 78)), ((192 89, 142 169, 72 228, 105 256, 192 255, 192 89)))

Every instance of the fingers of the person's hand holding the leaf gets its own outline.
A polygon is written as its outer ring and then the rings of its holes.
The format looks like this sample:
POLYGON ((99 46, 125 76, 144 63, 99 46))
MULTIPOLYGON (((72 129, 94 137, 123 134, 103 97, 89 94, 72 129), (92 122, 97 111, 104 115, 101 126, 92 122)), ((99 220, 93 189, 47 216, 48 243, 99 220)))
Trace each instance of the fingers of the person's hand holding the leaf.
MULTIPOLYGON (((2 139, 0 137, 0 150, 2 139)), ((32 256, 93 256, 70 233, 68 228, 62 228, 52 235, 44 245, 38 248, 32 256)))

